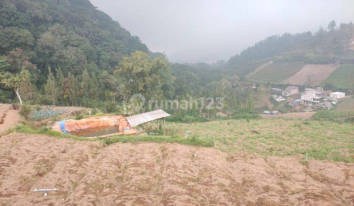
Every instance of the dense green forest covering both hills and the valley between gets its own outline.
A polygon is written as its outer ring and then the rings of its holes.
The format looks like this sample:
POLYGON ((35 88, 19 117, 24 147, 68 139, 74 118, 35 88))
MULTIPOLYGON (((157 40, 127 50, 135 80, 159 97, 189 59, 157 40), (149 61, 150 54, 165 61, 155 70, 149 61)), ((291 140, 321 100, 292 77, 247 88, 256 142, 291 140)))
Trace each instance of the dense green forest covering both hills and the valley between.
POLYGON ((0 102, 114 112, 134 94, 147 101, 223 97, 218 102, 223 108, 215 104, 199 114, 252 113, 265 90, 252 88, 254 83, 244 79, 248 72, 269 59, 354 63, 353 51, 346 48, 352 36, 352 23, 332 21, 314 35, 267 37, 227 62, 173 64, 88 0, 0 0, 0 102))

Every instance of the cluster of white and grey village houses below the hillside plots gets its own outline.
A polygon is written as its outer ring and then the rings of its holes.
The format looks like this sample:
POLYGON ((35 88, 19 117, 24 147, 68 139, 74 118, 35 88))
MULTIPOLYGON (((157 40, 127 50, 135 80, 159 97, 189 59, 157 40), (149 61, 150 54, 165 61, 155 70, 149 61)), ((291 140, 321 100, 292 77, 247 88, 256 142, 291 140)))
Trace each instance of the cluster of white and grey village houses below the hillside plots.
MULTIPOLYGON (((299 93, 299 88, 297 86, 288 86, 286 89, 271 88, 272 99, 276 102, 283 102, 287 100, 287 97, 299 93)), ((322 87, 317 87, 316 89, 306 88, 304 92, 300 95, 300 99, 295 99, 288 103, 290 107, 295 107, 297 105, 306 105, 307 107, 302 108, 302 111, 312 111, 318 109, 331 109, 334 104, 338 103, 342 98, 345 97, 344 92, 332 92, 330 90, 324 91, 322 87)), ((298 98, 298 96, 297 96, 298 98)), ((264 114, 275 115, 278 111, 264 111, 264 114)))

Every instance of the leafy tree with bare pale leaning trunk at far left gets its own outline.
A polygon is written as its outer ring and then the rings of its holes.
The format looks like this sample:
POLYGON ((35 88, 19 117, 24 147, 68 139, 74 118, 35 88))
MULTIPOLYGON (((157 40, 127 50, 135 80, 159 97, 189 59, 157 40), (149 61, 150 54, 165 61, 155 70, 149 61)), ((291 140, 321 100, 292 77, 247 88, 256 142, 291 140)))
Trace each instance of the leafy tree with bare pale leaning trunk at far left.
POLYGON ((36 66, 29 62, 29 57, 22 53, 21 49, 16 49, 7 56, 6 61, 1 58, 0 67, 0 83, 9 89, 13 89, 22 106, 22 99, 20 96, 21 82, 29 80, 31 76, 30 69, 35 69, 36 66), (7 62, 7 63, 6 63, 7 62))

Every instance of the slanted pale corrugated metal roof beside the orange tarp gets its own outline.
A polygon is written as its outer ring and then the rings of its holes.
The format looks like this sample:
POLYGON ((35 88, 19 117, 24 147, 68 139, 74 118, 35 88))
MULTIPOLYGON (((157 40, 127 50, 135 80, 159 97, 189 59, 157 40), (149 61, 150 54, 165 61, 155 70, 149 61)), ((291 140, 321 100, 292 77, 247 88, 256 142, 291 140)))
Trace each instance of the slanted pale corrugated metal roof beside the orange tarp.
POLYGON ((138 126, 147 122, 151 122, 157 119, 171 116, 171 114, 166 113, 162 109, 146 112, 143 114, 137 114, 130 117, 126 117, 131 127, 138 126))

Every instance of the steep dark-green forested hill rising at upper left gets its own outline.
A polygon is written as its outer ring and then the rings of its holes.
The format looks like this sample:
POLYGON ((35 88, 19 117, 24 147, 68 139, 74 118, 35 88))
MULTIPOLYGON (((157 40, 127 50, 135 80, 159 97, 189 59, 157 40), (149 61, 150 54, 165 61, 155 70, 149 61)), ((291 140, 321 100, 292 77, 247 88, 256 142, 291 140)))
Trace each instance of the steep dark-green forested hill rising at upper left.
POLYGON ((139 37, 96 9, 89 0, 0 0, 0 55, 20 48, 46 82, 47 66, 81 75, 112 73, 130 53, 149 52, 139 37))

